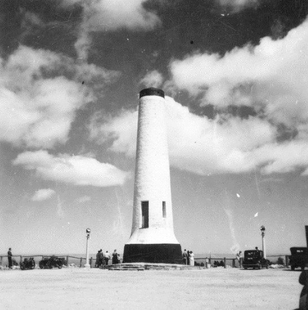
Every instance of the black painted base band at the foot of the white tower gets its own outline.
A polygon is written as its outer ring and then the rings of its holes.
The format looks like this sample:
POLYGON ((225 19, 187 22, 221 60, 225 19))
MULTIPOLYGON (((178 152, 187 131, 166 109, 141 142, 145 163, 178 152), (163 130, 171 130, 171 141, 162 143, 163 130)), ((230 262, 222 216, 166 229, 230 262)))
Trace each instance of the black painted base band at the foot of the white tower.
POLYGON ((123 263, 183 264, 180 244, 125 244, 123 263))

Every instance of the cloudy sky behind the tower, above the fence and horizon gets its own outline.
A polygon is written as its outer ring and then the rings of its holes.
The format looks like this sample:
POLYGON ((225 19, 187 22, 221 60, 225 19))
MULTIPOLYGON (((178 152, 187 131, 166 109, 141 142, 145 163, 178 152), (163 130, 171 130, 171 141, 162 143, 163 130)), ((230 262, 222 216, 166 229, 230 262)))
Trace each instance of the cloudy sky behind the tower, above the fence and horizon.
POLYGON ((138 93, 166 94, 174 226, 195 253, 305 246, 304 0, 11 0, 0 11, 0 251, 123 253, 138 93))

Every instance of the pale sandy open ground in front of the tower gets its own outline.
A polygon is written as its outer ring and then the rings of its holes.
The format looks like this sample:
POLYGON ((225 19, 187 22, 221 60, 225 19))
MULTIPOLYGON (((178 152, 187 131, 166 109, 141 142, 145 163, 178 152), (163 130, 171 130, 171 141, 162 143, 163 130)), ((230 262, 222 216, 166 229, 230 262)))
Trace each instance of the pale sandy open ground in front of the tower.
POLYGON ((300 272, 283 269, 0 271, 1 309, 295 309, 300 272))

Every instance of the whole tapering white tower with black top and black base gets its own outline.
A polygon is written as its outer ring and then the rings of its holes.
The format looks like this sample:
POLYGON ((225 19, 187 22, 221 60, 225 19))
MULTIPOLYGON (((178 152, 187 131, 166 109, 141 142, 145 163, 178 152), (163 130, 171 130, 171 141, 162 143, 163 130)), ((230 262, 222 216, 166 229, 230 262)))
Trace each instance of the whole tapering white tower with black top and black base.
POLYGON ((182 263, 172 219, 164 92, 140 92, 131 236, 123 262, 182 263))

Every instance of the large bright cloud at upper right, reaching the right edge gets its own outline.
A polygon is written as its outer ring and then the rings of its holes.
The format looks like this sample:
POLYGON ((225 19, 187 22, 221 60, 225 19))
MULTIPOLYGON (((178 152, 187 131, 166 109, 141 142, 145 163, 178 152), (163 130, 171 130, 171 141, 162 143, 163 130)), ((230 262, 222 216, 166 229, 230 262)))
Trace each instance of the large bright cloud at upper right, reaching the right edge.
POLYGON ((308 20, 279 40, 236 47, 224 55, 196 53, 170 63, 172 83, 217 109, 251 106, 268 121, 308 132, 308 20))

